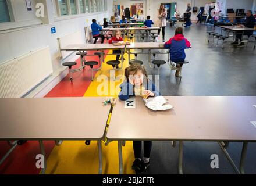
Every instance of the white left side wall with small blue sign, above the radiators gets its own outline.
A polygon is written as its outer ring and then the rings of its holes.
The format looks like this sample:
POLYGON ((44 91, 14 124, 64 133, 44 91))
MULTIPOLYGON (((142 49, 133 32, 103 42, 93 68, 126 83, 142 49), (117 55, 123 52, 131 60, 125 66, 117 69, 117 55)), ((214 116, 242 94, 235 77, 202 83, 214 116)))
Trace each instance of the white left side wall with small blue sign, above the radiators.
MULTIPOLYGON (((16 56, 29 53, 37 48, 49 45, 51 49, 52 66, 54 70, 61 67, 58 50, 58 37, 63 37, 77 30, 84 32, 85 26, 90 26, 91 19, 95 18, 102 21, 104 17, 110 17, 112 13, 112 0, 108 0, 108 12, 87 13, 84 15, 67 16, 65 19, 60 17, 55 19, 54 24, 44 24, 22 29, 0 31, 0 64, 16 56), (88 20, 88 22, 87 22, 88 20), (56 34, 51 34, 51 27, 56 27, 56 34)), ((34 16, 33 12, 24 11, 26 2, 23 0, 13 1, 16 15, 19 21, 29 20, 29 22, 41 23, 41 20, 34 16), (23 3, 22 3, 23 2, 23 3)), ((31 0, 31 2, 34 2, 31 0)), ((33 6, 33 9, 35 6, 33 6)), ((55 8, 54 8, 55 9, 55 8)), ((19 23, 19 22, 17 22, 19 23)), ((19 23, 21 24, 21 23, 19 23)), ((26 26, 27 24, 24 24, 26 26)), ((1 30, 1 25, 0 25, 1 30)), ((85 41, 85 35, 83 35, 85 41)), ((43 65, 43 64, 42 64, 43 65)))

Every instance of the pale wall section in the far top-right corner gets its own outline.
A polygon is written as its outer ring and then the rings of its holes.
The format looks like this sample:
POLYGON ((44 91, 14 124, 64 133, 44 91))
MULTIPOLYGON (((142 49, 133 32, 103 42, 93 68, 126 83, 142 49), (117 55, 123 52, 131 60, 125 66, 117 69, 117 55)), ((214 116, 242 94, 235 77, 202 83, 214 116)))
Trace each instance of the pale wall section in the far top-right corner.
MULTIPOLYGON (((236 9, 251 10, 253 8, 254 0, 226 0, 226 11, 228 8, 233 8, 236 13, 236 9)), ((225 12, 226 14, 226 12, 225 12)))

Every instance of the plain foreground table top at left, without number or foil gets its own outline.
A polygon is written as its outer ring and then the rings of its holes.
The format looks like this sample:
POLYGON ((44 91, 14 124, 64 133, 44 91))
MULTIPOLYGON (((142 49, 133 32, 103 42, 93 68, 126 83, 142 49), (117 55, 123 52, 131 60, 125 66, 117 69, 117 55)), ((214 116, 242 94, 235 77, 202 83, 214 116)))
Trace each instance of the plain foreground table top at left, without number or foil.
POLYGON ((110 106, 103 98, 1 98, 1 140, 99 140, 110 106))

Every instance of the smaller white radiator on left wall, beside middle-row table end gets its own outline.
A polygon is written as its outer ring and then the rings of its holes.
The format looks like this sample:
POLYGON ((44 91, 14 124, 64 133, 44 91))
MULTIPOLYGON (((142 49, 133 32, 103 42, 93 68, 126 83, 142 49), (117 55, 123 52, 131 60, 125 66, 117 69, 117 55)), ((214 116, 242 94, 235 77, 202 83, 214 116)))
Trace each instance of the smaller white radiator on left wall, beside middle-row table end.
MULTIPOLYGON (((84 33, 81 30, 77 30, 73 33, 64 35, 63 37, 57 38, 58 44, 59 44, 59 49, 62 49, 66 47, 67 45, 72 45, 72 44, 84 44, 84 33)), ((65 59, 68 56, 70 56, 73 52, 66 52, 66 51, 60 51, 60 59, 65 59)))

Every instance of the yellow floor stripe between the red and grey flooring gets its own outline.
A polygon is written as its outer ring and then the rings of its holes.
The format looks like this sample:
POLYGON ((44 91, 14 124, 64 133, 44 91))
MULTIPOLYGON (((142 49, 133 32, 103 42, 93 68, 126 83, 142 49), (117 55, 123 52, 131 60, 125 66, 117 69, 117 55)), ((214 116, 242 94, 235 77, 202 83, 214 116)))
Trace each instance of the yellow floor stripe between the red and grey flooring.
MULTIPOLYGON (((112 51, 109 51, 112 53, 112 51)), ((128 56, 125 54, 125 62, 123 69, 116 70, 115 75, 123 75, 125 67, 128 66, 128 56)), ((134 56, 131 56, 133 59, 134 56)), ((99 75, 109 77, 109 70, 112 69, 111 65, 107 65, 108 60, 115 60, 115 55, 108 55, 105 58, 105 63, 102 69, 99 70, 94 78, 94 81, 88 87, 84 96, 99 96, 97 94, 97 87, 101 82, 97 82, 99 75)), ((112 86, 116 86, 122 82, 112 83, 108 82, 108 94, 101 96, 118 96, 119 92, 111 92, 112 86), (114 85, 113 85, 114 84, 114 85)), ((104 101, 104 98, 102 98, 104 101)), ((115 107, 113 108, 115 112, 115 107)), ((97 117, 97 116, 96 116, 97 117)), ((131 170, 131 165, 134 160, 133 145, 131 141, 127 141, 123 150, 123 171, 124 174, 134 174, 131 170)), ((103 174, 118 174, 118 144, 112 141, 105 146, 102 144, 103 155, 103 174)), ((61 146, 55 146, 51 155, 47 159, 47 174, 98 174, 98 148, 97 142, 91 141, 89 146, 84 144, 84 141, 64 141, 61 146)))

